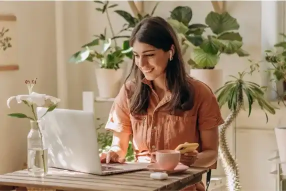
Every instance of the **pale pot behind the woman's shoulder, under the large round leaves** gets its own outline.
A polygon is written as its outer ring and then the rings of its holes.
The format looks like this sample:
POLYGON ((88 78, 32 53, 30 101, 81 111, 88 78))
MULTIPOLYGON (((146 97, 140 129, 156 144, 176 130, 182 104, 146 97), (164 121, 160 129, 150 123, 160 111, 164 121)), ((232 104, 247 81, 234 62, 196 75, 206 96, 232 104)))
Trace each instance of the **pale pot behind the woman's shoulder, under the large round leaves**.
POLYGON ((207 84, 213 92, 223 85, 222 69, 190 69, 190 76, 207 84))

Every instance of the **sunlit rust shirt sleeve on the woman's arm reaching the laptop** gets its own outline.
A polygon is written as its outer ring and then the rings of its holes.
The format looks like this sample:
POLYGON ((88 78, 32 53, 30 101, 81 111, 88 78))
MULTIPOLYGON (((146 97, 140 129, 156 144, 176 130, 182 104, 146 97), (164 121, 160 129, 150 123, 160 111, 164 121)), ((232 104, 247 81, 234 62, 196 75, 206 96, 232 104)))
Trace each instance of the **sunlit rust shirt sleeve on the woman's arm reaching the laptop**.
POLYGON ((111 106, 105 129, 132 134, 129 108, 127 105, 127 96, 124 85, 121 87, 111 106))

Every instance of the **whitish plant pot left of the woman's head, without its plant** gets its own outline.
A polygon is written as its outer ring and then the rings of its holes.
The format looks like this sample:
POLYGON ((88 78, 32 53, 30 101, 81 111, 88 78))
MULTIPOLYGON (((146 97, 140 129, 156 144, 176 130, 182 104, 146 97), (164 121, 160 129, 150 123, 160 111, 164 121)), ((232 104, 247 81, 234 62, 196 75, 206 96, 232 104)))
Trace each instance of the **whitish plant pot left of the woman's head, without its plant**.
POLYGON ((121 87, 121 80, 124 74, 123 69, 95 68, 98 94, 102 98, 114 98, 121 87))

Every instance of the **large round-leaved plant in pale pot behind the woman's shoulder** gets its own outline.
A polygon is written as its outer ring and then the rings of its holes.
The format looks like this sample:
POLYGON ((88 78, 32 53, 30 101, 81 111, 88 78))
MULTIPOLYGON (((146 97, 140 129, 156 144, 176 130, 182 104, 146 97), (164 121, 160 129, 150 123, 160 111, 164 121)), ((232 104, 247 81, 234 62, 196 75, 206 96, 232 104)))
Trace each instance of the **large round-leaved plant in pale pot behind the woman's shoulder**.
POLYGON ((215 68, 220 55, 249 54, 241 48, 243 43, 238 32, 239 24, 228 12, 219 14, 210 11, 205 17, 205 24, 189 24, 191 17, 191 8, 179 6, 171 11, 168 22, 175 28, 182 50, 187 53, 187 48, 191 48, 187 61, 191 66, 190 75, 215 91, 222 84, 222 70, 215 68), (206 31, 208 28, 212 34, 204 35, 209 33, 206 31))

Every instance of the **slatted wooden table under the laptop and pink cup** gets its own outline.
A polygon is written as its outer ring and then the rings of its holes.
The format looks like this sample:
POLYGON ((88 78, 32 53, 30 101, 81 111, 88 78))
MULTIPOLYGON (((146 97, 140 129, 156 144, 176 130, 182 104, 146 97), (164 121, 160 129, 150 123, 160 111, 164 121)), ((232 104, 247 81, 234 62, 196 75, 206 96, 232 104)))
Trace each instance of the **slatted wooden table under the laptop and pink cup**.
POLYGON ((147 170, 100 176, 49 168, 48 175, 32 177, 25 169, 0 175, 0 185, 28 190, 178 190, 201 181, 207 170, 191 167, 182 173, 170 174, 166 180, 154 180, 147 170))

